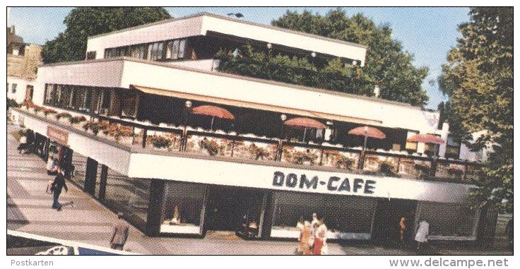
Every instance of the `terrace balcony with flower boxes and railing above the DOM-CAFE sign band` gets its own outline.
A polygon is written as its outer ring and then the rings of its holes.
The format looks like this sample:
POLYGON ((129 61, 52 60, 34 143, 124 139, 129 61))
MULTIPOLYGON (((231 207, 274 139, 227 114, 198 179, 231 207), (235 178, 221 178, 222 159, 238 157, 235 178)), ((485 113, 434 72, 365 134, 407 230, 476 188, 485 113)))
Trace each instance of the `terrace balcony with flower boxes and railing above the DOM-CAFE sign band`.
MULTIPOLYGON (((375 141, 367 144, 368 149, 363 158, 359 146, 311 141, 308 138, 302 140, 302 136, 311 136, 313 133, 310 130, 292 130, 289 126, 280 126, 282 128, 277 130, 283 132, 283 138, 223 129, 208 130, 189 125, 153 124, 151 121, 85 112, 69 114, 67 110, 59 108, 56 111, 32 106, 16 111, 136 153, 145 150, 154 155, 181 155, 249 165, 468 184, 478 180, 477 172, 481 167, 475 162, 408 153, 406 150, 376 150, 375 141)), ((196 122, 193 117, 191 121, 196 122)))

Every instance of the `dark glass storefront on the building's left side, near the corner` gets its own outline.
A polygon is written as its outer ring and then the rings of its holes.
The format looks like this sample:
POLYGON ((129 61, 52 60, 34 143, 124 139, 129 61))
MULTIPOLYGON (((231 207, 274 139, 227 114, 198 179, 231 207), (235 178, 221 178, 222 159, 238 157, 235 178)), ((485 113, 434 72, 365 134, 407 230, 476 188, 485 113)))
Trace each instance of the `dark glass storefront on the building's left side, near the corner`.
POLYGON ((105 203, 112 210, 124 213, 138 227, 146 227, 150 179, 134 179, 108 169, 105 203))

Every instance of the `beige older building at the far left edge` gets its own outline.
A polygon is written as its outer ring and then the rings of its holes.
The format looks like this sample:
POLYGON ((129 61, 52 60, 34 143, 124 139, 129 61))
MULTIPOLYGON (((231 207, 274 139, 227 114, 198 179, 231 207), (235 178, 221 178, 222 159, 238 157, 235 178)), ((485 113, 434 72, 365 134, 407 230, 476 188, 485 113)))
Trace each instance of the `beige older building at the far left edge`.
POLYGON ((7 28, 7 97, 16 102, 31 100, 37 66, 42 63, 42 47, 26 44, 16 35, 14 25, 7 28))

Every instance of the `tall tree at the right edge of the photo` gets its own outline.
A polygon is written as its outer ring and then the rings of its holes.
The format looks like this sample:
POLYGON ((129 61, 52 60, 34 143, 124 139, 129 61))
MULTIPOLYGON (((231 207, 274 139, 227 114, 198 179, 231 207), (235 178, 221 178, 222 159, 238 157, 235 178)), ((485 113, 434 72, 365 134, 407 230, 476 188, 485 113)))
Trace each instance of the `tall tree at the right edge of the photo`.
POLYGON ((439 87, 449 96, 451 130, 459 136, 483 131, 475 150, 492 146, 473 193, 475 203, 513 206, 513 8, 472 8, 471 21, 442 66, 439 87))

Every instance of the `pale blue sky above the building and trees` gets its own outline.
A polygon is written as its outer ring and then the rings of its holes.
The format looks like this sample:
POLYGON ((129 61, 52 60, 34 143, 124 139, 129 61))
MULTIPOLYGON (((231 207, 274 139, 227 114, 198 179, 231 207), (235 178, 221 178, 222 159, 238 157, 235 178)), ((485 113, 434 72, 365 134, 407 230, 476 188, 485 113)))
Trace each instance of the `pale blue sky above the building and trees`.
MULTIPOLYGON (((72 8, 38 7, 11 8, 8 14, 8 25, 15 25, 16 34, 28 43, 44 44, 53 40, 59 32, 65 30, 64 18, 72 8)), ((333 8, 166 8, 172 17, 182 17, 202 11, 225 15, 242 13, 242 20, 255 23, 271 24, 290 11, 311 11, 325 15, 333 8)), ((423 89, 427 91, 430 101, 427 108, 437 109, 439 102, 446 100, 437 88, 430 85, 441 73, 441 65, 446 61, 447 52, 455 47, 456 38, 461 35, 458 25, 469 21, 469 8, 343 8, 348 16, 362 13, 374 20, 376 25, 388 24, 392 29, 392 37, 403 45, 403 49, 413 55, 414 66, 426 66, 430 69, 424 80, 423 89)))

